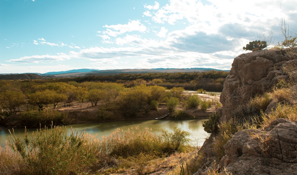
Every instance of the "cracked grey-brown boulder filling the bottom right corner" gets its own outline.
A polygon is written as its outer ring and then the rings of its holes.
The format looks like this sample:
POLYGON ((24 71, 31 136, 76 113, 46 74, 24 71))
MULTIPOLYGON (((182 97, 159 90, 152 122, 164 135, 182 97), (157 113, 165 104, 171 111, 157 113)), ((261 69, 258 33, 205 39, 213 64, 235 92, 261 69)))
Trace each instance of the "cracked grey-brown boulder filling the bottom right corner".
POLYGON ((224 149, 219 166, 232 174, 297 174, 297 123, 276 119, 266 131, 239 131, 224 149))

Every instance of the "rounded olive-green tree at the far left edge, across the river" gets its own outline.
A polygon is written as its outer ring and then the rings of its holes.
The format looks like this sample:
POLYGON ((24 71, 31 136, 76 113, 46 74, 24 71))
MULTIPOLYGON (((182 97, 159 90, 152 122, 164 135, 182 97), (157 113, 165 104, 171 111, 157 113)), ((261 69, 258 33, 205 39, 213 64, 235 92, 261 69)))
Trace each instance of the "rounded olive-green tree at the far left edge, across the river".
POLYGON ((11 113, 16 114, 17 108, 21 104, 25 104, 25 95, 21 91, 16 90, 6 90, 1 94, 2 97, 2 106, 8 108, 11 113))

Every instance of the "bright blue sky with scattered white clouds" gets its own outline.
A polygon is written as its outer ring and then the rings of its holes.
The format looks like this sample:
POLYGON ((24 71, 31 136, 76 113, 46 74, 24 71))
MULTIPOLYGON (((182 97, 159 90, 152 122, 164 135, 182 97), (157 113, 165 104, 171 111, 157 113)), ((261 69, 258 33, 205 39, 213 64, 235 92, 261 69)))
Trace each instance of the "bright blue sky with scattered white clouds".
POLYGON ((296 19, 296 0, 0 0, 0 74, 230 70, 250 41, 283 41, 282 20, 294 35, 296 19))

